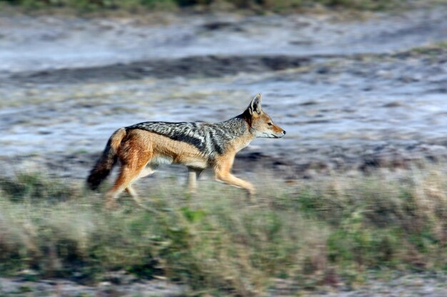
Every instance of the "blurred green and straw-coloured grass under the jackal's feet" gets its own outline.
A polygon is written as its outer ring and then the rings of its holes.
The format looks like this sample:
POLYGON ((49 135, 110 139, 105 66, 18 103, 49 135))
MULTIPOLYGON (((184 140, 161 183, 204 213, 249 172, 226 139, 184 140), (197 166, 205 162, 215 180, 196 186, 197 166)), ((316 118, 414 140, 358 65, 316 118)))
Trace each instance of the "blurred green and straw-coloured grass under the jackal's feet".
POLYGON ((263 181, 256 204, 239 189, 175 181, 151 187, 154 213, 123 197, 114 212, 81 184, 19 174, 0 181, 0 271, 101 281, 106 271, 164 276, 193 291, 251 296, 283 278, 296 288, 371 271, 447 271, 447 184, 408 174, 263 181))

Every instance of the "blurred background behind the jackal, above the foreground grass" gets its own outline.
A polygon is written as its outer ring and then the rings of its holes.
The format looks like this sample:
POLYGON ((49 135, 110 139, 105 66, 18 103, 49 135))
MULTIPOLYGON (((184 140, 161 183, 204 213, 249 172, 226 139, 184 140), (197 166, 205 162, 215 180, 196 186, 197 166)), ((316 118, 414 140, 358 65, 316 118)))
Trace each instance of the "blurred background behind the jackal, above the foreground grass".
POLYGON ((268 155, 259 162, 289 179, 447 155, 436 2, 6 2, 4 170, 15 160, 84 178, 118 127, 226 120, 255 93, 288 137, 242 157, 268 155))

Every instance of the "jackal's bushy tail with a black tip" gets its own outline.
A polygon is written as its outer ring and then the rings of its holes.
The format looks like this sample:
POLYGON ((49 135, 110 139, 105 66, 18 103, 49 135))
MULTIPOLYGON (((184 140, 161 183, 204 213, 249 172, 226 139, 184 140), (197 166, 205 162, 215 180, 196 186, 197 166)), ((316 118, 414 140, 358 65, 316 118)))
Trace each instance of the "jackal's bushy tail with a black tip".
POLYGON ((116 160, 118 159, 117 152, 119 145, 125 136, 126 129, 121 128, 116 130, 109 138, 104 152, 90 171, 89 177, 87 177, 87 184, 90 189, 97 189, 99 184, 101 184, 111 172, 111 169, 114 167, 116 160))

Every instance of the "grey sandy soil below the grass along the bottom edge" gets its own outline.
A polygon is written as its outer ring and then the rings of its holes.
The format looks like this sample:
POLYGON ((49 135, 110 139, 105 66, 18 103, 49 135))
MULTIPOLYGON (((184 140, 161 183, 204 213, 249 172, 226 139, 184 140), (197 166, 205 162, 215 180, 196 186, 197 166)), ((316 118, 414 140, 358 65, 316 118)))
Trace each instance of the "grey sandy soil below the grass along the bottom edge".
MULTIPOLYGON (((4 296, 119 296, 156 297, 185 296, 186 288, 166 281, 138 281, 131 276, 115 273, 111 281, 96 286, 84 286, 73 281, 47 280, 24 281, 21 278, 0 278, 0 293, 4 296)), ((446 276, 413 273, 406 276, 393 276, 388 281, 371 278, 366 283, 347 286, 319 286, 313 289, 300 289, 297 283, 278 279, 273 281, 266 296, 326 296, 326 297, 445 297, 447 294, 446 276)))

